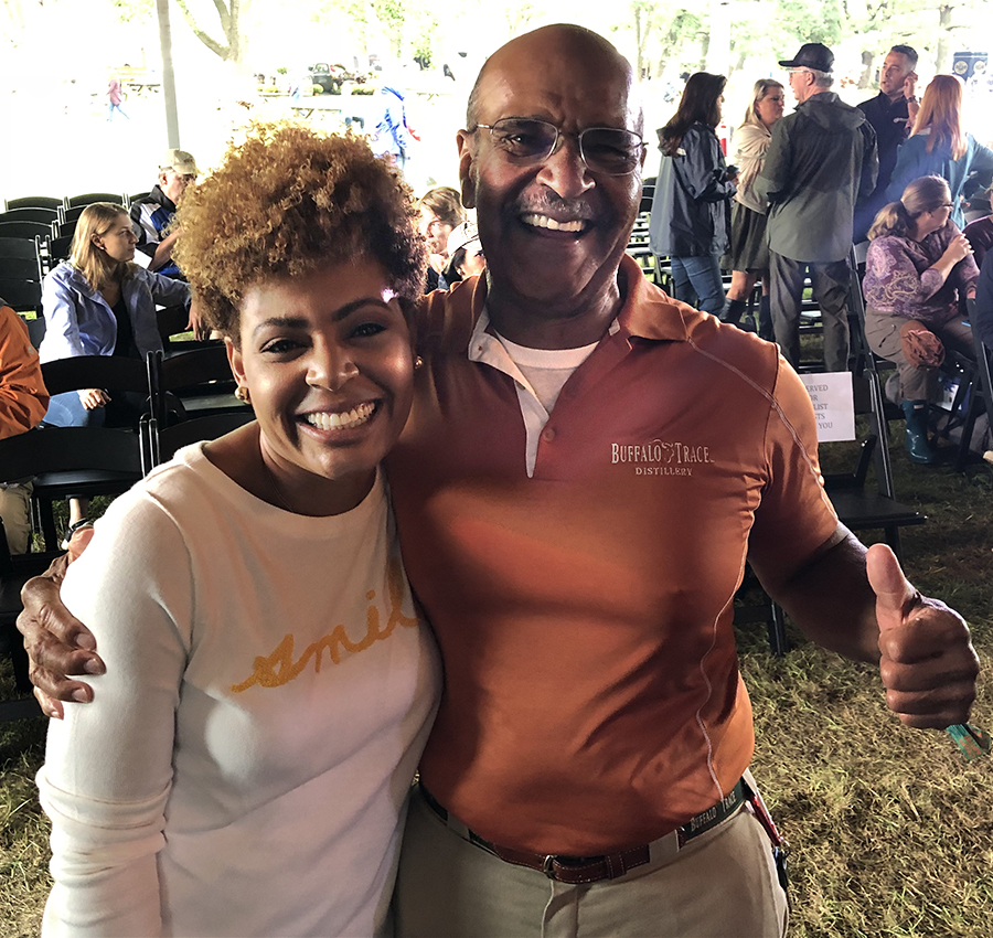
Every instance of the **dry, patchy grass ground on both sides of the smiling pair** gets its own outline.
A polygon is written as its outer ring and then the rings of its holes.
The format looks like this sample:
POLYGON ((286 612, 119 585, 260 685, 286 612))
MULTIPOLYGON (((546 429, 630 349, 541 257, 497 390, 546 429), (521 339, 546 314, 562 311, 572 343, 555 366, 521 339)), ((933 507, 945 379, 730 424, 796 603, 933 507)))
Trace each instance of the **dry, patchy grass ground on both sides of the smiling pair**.
MULTIPOLYGON (((898 497, 928 515, 904 532, 908 574, 967 617, 989 671, 993 472, 912 466, 899 446, 894 456, 898 497)), ((760 626, 740 633, 740 647, 758 731, 754 769, 792 845, 791 936, 987 938, 993 758, 965 763, 944 734, 903 727, 874 669, 790 635, 796 647, 782 659, 769 654, 760 626)), ((993 729, 985 685, 974 722, 993 729)), ((33 785, 43 733, 41 721, 0 724, 2 938, 38 934, 50 885, 33 785)))

